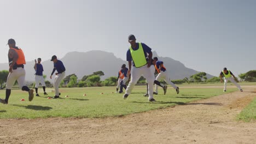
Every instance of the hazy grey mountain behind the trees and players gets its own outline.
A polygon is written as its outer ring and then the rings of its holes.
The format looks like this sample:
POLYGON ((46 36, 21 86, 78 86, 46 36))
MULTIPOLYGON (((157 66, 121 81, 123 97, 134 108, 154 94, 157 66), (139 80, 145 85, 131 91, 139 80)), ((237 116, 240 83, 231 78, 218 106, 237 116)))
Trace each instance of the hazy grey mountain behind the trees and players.
MULTIPOLYGON (((153 52, 153 57, 157 55, 153 52)), ((189 77, 199 73, 199 71, 189 69, 185 67, 179 61, 175 61, 169 57, 158 57, 160 61, 164 62, 167 72, 171 80, 184 79, 184 77, 189 77)), ((121 58, 117 58, 113 53, 104 51, 89 51, 89 52, 69 52, 63 58, 60 58, 66 67, 66 75, 76 74, 78 79, 82 79, 84 75, 90 75, 95 71, 103 71, 104 76, 101 77, 102 80, 110 76, 118 76, 118 71, 122 64, 128 64, 121 58)), ((47 75, 47 80, 53 70, 53 62, 50 59, 42 62, 44 67, 44 74, 47 75)), ((26 69, 26 80, 34 81, 34 61, 28 61, 25 65, 26 69)), ((8 63, 0 64, 0 70, 7 70, 8 63)), ((207 77, 213 77, 207 74, 207 77)), ((51 80, 52 81, 52 80, 51 80)))

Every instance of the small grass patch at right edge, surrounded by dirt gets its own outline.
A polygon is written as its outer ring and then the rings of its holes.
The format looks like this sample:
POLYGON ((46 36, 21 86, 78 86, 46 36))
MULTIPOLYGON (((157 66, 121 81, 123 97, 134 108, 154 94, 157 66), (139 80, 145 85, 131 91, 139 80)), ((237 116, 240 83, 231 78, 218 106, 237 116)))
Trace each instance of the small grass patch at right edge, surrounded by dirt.
POLYGON ((256 98, 242 110, 237 117, 239 120, 249 122, 256 119, 256 98))

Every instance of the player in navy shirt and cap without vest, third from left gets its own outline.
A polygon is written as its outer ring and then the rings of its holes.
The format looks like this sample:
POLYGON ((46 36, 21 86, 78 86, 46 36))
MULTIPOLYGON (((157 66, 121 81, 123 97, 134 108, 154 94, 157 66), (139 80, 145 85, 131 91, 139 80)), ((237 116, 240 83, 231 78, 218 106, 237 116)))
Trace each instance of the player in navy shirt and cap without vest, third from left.
POLYGON ((61 81, 65 77, 66 68, 64 67, 63 63, 57 59, 55 55, 51 57, 51 61, 54 62, 54 69, 53 69, 53 72, 51 73, 50 79, 52 78, 55 70, 57 70, 57 73, 55 73, 56 76, 54 79, 55 96, 53 97, 53 99, 57 99, 60 97, 59 86, 61 81))

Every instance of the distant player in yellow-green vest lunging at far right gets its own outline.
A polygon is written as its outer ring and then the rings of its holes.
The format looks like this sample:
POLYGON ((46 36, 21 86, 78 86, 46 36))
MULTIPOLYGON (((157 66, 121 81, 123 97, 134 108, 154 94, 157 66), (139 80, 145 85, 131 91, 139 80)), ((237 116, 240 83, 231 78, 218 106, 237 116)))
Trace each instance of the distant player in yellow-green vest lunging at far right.
POLYGON ((223 82, 222 77, 224 77, 224 89, 223 92, 226 92, 226 85, 228 83, 228 81, 231 81, 232 83, 234 83, 236 85, 236 87, 243 92, 243 89, 241 88, 240 85, 238 85, 238 80, 236 79, 235 75, 232 74, 232 72, 226 68, 223 68, 222 72, 220 72, 220 82, 223 82), (232 77, 233 76, 233 77, 232 77))

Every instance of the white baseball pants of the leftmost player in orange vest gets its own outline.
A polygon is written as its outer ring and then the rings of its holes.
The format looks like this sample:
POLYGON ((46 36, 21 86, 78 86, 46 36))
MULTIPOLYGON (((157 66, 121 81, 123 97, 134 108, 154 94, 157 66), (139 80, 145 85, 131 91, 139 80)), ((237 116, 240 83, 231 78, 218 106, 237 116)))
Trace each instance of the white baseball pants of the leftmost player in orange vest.
POLYGON ((20 89, 22 89, 23 86, 25 86, 25 76, 26 71, 24 68, 17 68, 13 70, 13 73, 9 73, 7 77, 7 89, 11 89, 15 83, 15 81, 18 81, 18 85, 20 89))

